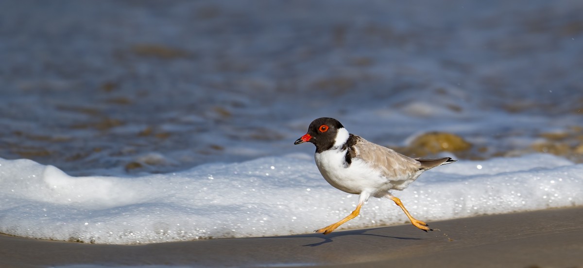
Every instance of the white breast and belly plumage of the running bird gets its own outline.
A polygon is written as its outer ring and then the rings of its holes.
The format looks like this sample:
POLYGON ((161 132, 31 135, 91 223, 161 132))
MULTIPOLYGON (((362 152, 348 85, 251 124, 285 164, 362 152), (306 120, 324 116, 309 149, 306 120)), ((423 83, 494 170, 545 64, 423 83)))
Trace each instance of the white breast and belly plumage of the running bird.
POLYGON ((391 183, 378 170, 371 169, 358 158, 345 165, 346 150, 328 150, 315 154, 320 173, 330 185, 346 193, 384 192, 391 189, 391 183))

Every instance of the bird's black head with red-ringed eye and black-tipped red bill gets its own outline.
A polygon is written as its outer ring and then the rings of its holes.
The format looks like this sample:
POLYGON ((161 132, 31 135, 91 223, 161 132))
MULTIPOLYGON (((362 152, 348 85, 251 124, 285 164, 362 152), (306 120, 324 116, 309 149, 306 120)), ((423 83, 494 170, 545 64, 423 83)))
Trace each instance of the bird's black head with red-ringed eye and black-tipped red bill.
POLYGON ((298 138, 294 144, 312 142, 316 145, 317 152, 325 151, 335 144, 336 135, 340 128, 344 128, 344 126, 336 119, 330 117, 318 118, 312 121, 310 127, 308 127, 308 132, 298 138))

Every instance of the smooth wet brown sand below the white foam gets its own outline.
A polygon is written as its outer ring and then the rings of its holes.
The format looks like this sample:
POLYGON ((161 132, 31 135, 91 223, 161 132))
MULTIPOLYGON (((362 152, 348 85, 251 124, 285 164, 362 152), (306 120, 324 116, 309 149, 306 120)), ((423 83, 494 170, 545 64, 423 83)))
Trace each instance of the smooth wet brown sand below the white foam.
POLYGON ((91 245, 0 235, 0 267, 583 267, 583 207, 266 238, 91 245))

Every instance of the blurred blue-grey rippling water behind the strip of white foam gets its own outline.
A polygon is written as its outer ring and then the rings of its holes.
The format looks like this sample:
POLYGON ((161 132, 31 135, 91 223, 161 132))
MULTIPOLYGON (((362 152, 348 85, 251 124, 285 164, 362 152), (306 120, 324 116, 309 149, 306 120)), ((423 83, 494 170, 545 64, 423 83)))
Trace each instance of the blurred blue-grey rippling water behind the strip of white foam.
POLYGON ((0 156, 73 175, 171 172, 305 152, 293 141, 329 116, 409 155, 581 162, 582 13, 581 1, 2 1, 0 156))

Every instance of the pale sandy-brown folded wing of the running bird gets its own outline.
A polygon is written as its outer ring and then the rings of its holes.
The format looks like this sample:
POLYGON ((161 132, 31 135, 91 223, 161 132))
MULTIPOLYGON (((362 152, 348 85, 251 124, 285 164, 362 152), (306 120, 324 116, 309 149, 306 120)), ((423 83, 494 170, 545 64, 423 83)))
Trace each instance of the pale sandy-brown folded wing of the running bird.
POLYGON ((356 139, 356 144, 351 147, 354 157, 369 163, 373 168, 378 168, 389 179, 410 179, 421 168, 421 163, 413 158, 364 140, 364 138, 356 136, 356 139))

